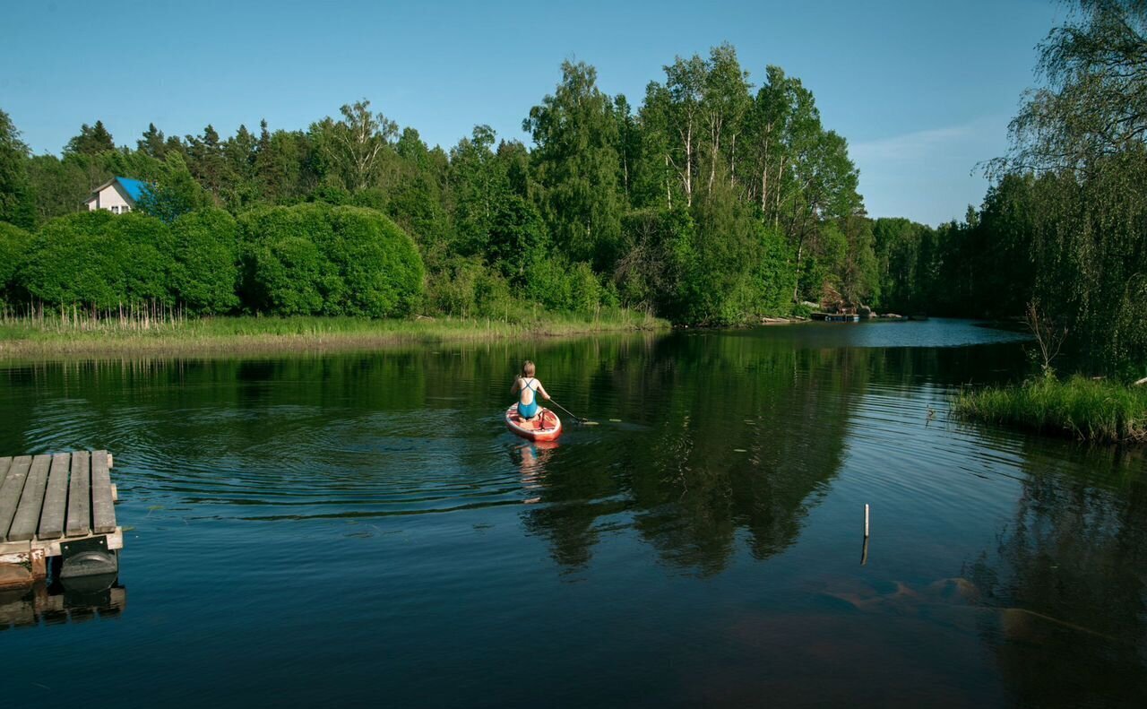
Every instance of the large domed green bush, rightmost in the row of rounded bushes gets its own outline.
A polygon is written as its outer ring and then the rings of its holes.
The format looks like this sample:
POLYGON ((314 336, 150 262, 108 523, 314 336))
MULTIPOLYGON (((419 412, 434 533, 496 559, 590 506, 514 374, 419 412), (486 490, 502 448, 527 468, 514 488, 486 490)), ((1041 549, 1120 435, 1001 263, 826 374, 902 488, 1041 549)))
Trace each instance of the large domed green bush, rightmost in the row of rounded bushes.
POLYGON ((239 224, 253 310, 382 318, 419 303, 422 259, 380 212, 313 203, 253 210, 239 224))

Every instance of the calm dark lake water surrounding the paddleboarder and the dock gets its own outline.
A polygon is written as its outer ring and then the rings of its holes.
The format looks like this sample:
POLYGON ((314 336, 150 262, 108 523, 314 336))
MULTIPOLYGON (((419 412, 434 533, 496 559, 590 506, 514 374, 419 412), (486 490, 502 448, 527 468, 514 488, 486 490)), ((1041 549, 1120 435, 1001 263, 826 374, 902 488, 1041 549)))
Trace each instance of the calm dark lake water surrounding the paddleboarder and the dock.
POLYGON ((1016 340, 0 364, 0 454, 111 450, 130 528, 118 614, 0 631, 3 701, 1141 707, 1141 454, 947 415, 1016 340), (601 424, 506 431, 525 357, 601 424))

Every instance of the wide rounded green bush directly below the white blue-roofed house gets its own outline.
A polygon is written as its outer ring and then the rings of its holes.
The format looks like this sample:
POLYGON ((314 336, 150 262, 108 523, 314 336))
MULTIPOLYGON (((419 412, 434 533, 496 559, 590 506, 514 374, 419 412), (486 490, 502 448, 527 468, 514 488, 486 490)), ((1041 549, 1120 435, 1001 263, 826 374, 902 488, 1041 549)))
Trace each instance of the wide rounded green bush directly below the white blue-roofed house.
POLYGON ((173 251, 170 229, 153 217, 103 210, 70 215, 37 232, 17 280, 47 305, 171 305, 173 251))

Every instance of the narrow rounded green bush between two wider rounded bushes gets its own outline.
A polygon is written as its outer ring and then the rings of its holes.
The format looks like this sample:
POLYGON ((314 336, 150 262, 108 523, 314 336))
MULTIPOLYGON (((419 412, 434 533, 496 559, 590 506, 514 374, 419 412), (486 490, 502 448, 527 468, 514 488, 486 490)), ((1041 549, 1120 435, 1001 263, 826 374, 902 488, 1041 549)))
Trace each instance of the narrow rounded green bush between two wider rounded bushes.
POLYGON ((193 313, 218 314, 239 307, 239 227, 220 209, 186 213, 171 225, 174 264, 171 287, 193 313))

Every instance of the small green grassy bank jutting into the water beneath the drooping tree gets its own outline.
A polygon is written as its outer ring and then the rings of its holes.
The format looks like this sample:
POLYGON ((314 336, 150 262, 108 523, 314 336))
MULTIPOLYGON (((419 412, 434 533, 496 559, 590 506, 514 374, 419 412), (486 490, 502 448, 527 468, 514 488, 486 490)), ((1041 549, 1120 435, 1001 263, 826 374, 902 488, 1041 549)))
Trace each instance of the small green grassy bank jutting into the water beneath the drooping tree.
POLYGON ((1013 387, 961 391, 953 412, 1097 443, 1147 443, 1147 385, 1074 376, 1040 377, 1013 387))

